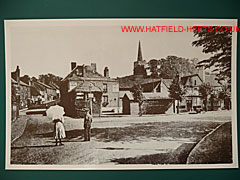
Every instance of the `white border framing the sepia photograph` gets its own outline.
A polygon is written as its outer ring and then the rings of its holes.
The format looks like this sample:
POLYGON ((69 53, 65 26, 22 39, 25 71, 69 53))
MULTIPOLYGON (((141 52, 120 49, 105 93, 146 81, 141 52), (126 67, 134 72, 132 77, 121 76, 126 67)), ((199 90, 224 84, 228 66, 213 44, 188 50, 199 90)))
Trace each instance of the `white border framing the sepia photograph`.
POLYGON ((198 165, 12 165, 11 155, 11 27, 19 25, 31 25, 45 22, 52 25, 61 22, 65 25, 134 25, 143 23, 144 25, 155 24, 164 25, 219 25, 237 26, 237 19, 34 19, 34 20, 5 20, 5 69, 6 69, 6 162, 7 170, 140 170, 140 169, 216 169, 216 168, 238 168, 238 146, 237 146, 237 33, 232 34, 232 164, 198 164, 198 165), (119 24, 121 22, 122 24, 119 24), (191 24, 188 24, 191 22, 191 24))

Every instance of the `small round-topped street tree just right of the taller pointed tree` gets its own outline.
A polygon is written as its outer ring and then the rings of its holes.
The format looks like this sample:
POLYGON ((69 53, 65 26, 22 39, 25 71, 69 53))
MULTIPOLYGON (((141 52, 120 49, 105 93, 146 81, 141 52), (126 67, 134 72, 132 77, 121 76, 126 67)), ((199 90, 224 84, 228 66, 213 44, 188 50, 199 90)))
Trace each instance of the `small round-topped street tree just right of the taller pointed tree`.
POLYGON ((212 94, 212 87, 209 84, 203 83, 199 86, 199 93, 203 101, 203 107, 204 107, 203 109, 204 111, 208 111, 208 108, 207 108, 208 96, 212 94))

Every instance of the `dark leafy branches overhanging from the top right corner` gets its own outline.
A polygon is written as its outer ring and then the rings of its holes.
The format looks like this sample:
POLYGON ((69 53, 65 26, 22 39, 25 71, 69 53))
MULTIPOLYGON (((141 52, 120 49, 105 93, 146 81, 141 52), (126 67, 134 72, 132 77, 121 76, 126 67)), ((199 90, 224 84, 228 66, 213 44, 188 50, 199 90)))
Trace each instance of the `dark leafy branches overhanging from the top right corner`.
POLYGON ((231 54, 232 54, 232 33, 230 27, 226 32, 218 32, 219 27, 208 27, 203 31, 194 32, 198 39, 192 42, 195 47, 203 47, 203 53, 210 53, 212 56, 202 60, 197 67, 211 68, 217 72, 217 80, 228 79, 231 82, 231 54), (211 29, 210 29, 211 28, 211 29))

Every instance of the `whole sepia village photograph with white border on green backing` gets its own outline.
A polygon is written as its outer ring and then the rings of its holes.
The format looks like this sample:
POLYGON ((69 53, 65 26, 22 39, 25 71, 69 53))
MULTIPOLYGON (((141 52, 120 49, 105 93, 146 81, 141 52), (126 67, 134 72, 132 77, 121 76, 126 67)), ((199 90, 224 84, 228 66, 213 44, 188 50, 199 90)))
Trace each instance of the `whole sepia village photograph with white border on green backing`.
POLYGON ((6 169, 238 168, 237 20, 4 26, 6 169))

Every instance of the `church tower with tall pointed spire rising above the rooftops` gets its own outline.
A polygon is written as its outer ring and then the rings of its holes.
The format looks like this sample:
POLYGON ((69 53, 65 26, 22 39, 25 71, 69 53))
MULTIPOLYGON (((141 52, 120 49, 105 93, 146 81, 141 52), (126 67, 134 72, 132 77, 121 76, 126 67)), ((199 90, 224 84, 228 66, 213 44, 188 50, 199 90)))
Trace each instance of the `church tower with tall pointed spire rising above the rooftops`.
POLYGON ((146 61, 143 60, 141 42, 138 43, 137 61, 134 62, 133 75, 134 76, 146 76, 146 61))

